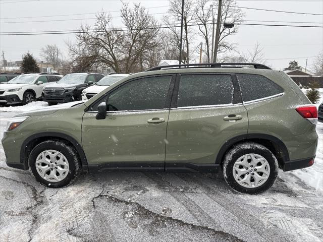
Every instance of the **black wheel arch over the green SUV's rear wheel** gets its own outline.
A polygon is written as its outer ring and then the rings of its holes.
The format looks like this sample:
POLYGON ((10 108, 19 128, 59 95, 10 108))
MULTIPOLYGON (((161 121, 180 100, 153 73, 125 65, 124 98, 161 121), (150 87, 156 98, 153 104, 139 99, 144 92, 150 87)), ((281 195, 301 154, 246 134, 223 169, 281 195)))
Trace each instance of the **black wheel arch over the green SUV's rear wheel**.
POLYGON ((279 138, 267 134, 240 135, 228 140, 220 149, 216 164, 222 164, 226 152, 238 143, 253 141, 269 149, 277 158, 279 167, 282 168, 286 161, 289 161, 289 153, 286 145, 279 138))

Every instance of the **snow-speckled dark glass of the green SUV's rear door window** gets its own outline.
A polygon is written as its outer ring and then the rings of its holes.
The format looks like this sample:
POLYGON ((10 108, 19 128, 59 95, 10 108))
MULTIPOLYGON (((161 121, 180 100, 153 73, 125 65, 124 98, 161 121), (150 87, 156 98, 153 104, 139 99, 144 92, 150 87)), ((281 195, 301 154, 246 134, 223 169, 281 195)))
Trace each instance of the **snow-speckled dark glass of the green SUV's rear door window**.
POLYGON ((177 107, 230 104, 232 98, 230 75, 182 75, 177 107))

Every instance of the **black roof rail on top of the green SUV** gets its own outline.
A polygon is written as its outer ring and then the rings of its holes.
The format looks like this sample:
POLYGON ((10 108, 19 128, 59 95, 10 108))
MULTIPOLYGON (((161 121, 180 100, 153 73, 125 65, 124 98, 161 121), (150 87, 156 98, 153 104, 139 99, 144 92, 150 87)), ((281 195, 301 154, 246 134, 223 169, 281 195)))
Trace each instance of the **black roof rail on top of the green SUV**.
POLYGON ((182 65, 159 66, 159 67, 153 67, 151 69, 148 69, 145 72, 159 71, 163 69, 179 69, 179 68, 242 68, 242 67, 236 67, 236 66, 253 66, 254 69, 272 70, 271 68, 265 65, 256 64, 256 63, 203 63, 203 64, 182 64, 182 65))

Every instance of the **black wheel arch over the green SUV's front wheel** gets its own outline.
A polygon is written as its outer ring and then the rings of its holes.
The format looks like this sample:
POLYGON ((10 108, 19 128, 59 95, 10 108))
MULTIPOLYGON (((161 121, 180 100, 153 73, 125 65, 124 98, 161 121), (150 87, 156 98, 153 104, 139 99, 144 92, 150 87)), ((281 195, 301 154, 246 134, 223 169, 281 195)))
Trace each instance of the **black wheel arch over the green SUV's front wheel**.
POLYGON ((81 159, 83 170, 88 170, 88 163, 83 151, 83 148, 79 142, 69 135, 58 132, 43 132, 29 136, 22 144, 20 149, 20 161, 24 164, 24 169, 28 169, 28 157, 31 150, 38 144, 46 140, 62 140, 71 144, 77 151, 81 159))

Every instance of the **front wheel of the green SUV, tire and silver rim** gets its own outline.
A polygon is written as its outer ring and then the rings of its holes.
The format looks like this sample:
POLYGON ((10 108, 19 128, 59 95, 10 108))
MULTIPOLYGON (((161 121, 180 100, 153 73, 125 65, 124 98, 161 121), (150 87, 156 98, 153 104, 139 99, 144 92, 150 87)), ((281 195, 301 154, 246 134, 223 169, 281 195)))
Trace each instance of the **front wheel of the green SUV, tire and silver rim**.
POLYGON ((34 178, 52 188, 70 185, 81 171, 77 151, 64 141, 48 140, 38 144, 29 155, 28 164, 34 178))

